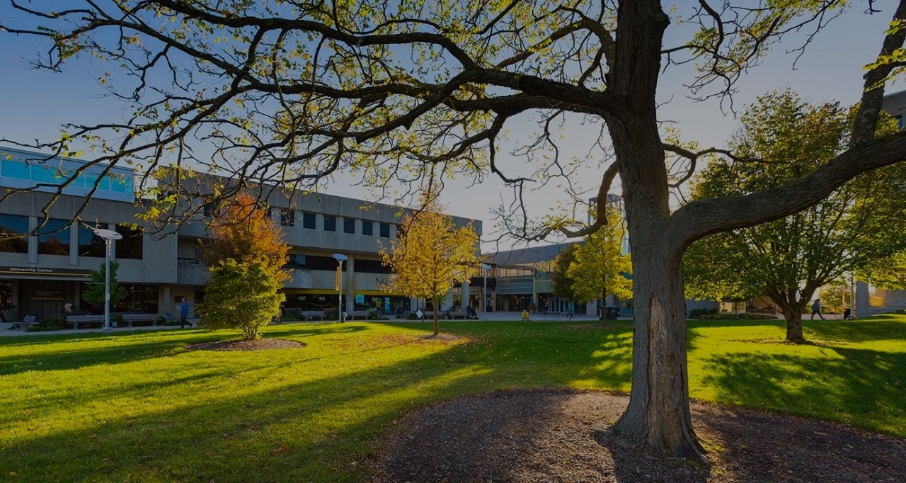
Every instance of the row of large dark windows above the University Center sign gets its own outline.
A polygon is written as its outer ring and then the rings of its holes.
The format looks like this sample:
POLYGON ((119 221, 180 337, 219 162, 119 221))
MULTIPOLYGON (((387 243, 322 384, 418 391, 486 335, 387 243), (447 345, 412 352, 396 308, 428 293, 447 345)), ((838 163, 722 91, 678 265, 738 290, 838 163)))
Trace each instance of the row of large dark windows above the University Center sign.
MULTIPOLYGON (((66 227, 71 222, 63 219, 49 219, 43 227, 38 230, 38 254, 39 255, 63 255, 69 256, 72 253, 70 246, 71 230, 78 230, 78 243, 75 247, 79 256, 105 256, 106 245, 104 239, 94 234, 94 227, 84 227, 72 225, 66 227)), ((98 227, 108 227, 100 224, 98 227)), ((142 232, 140 229, 133 229, 123 225, 111 225, 110 229, 115 229, 122 235, 122 239, 116 241, 117 258, 141 259, 142 253, 142 232)), ((21 237, 28 233, 28 217, 21 215, 0 215, 0 252, 11 253, 28 253, 28 238, 21 237)))

